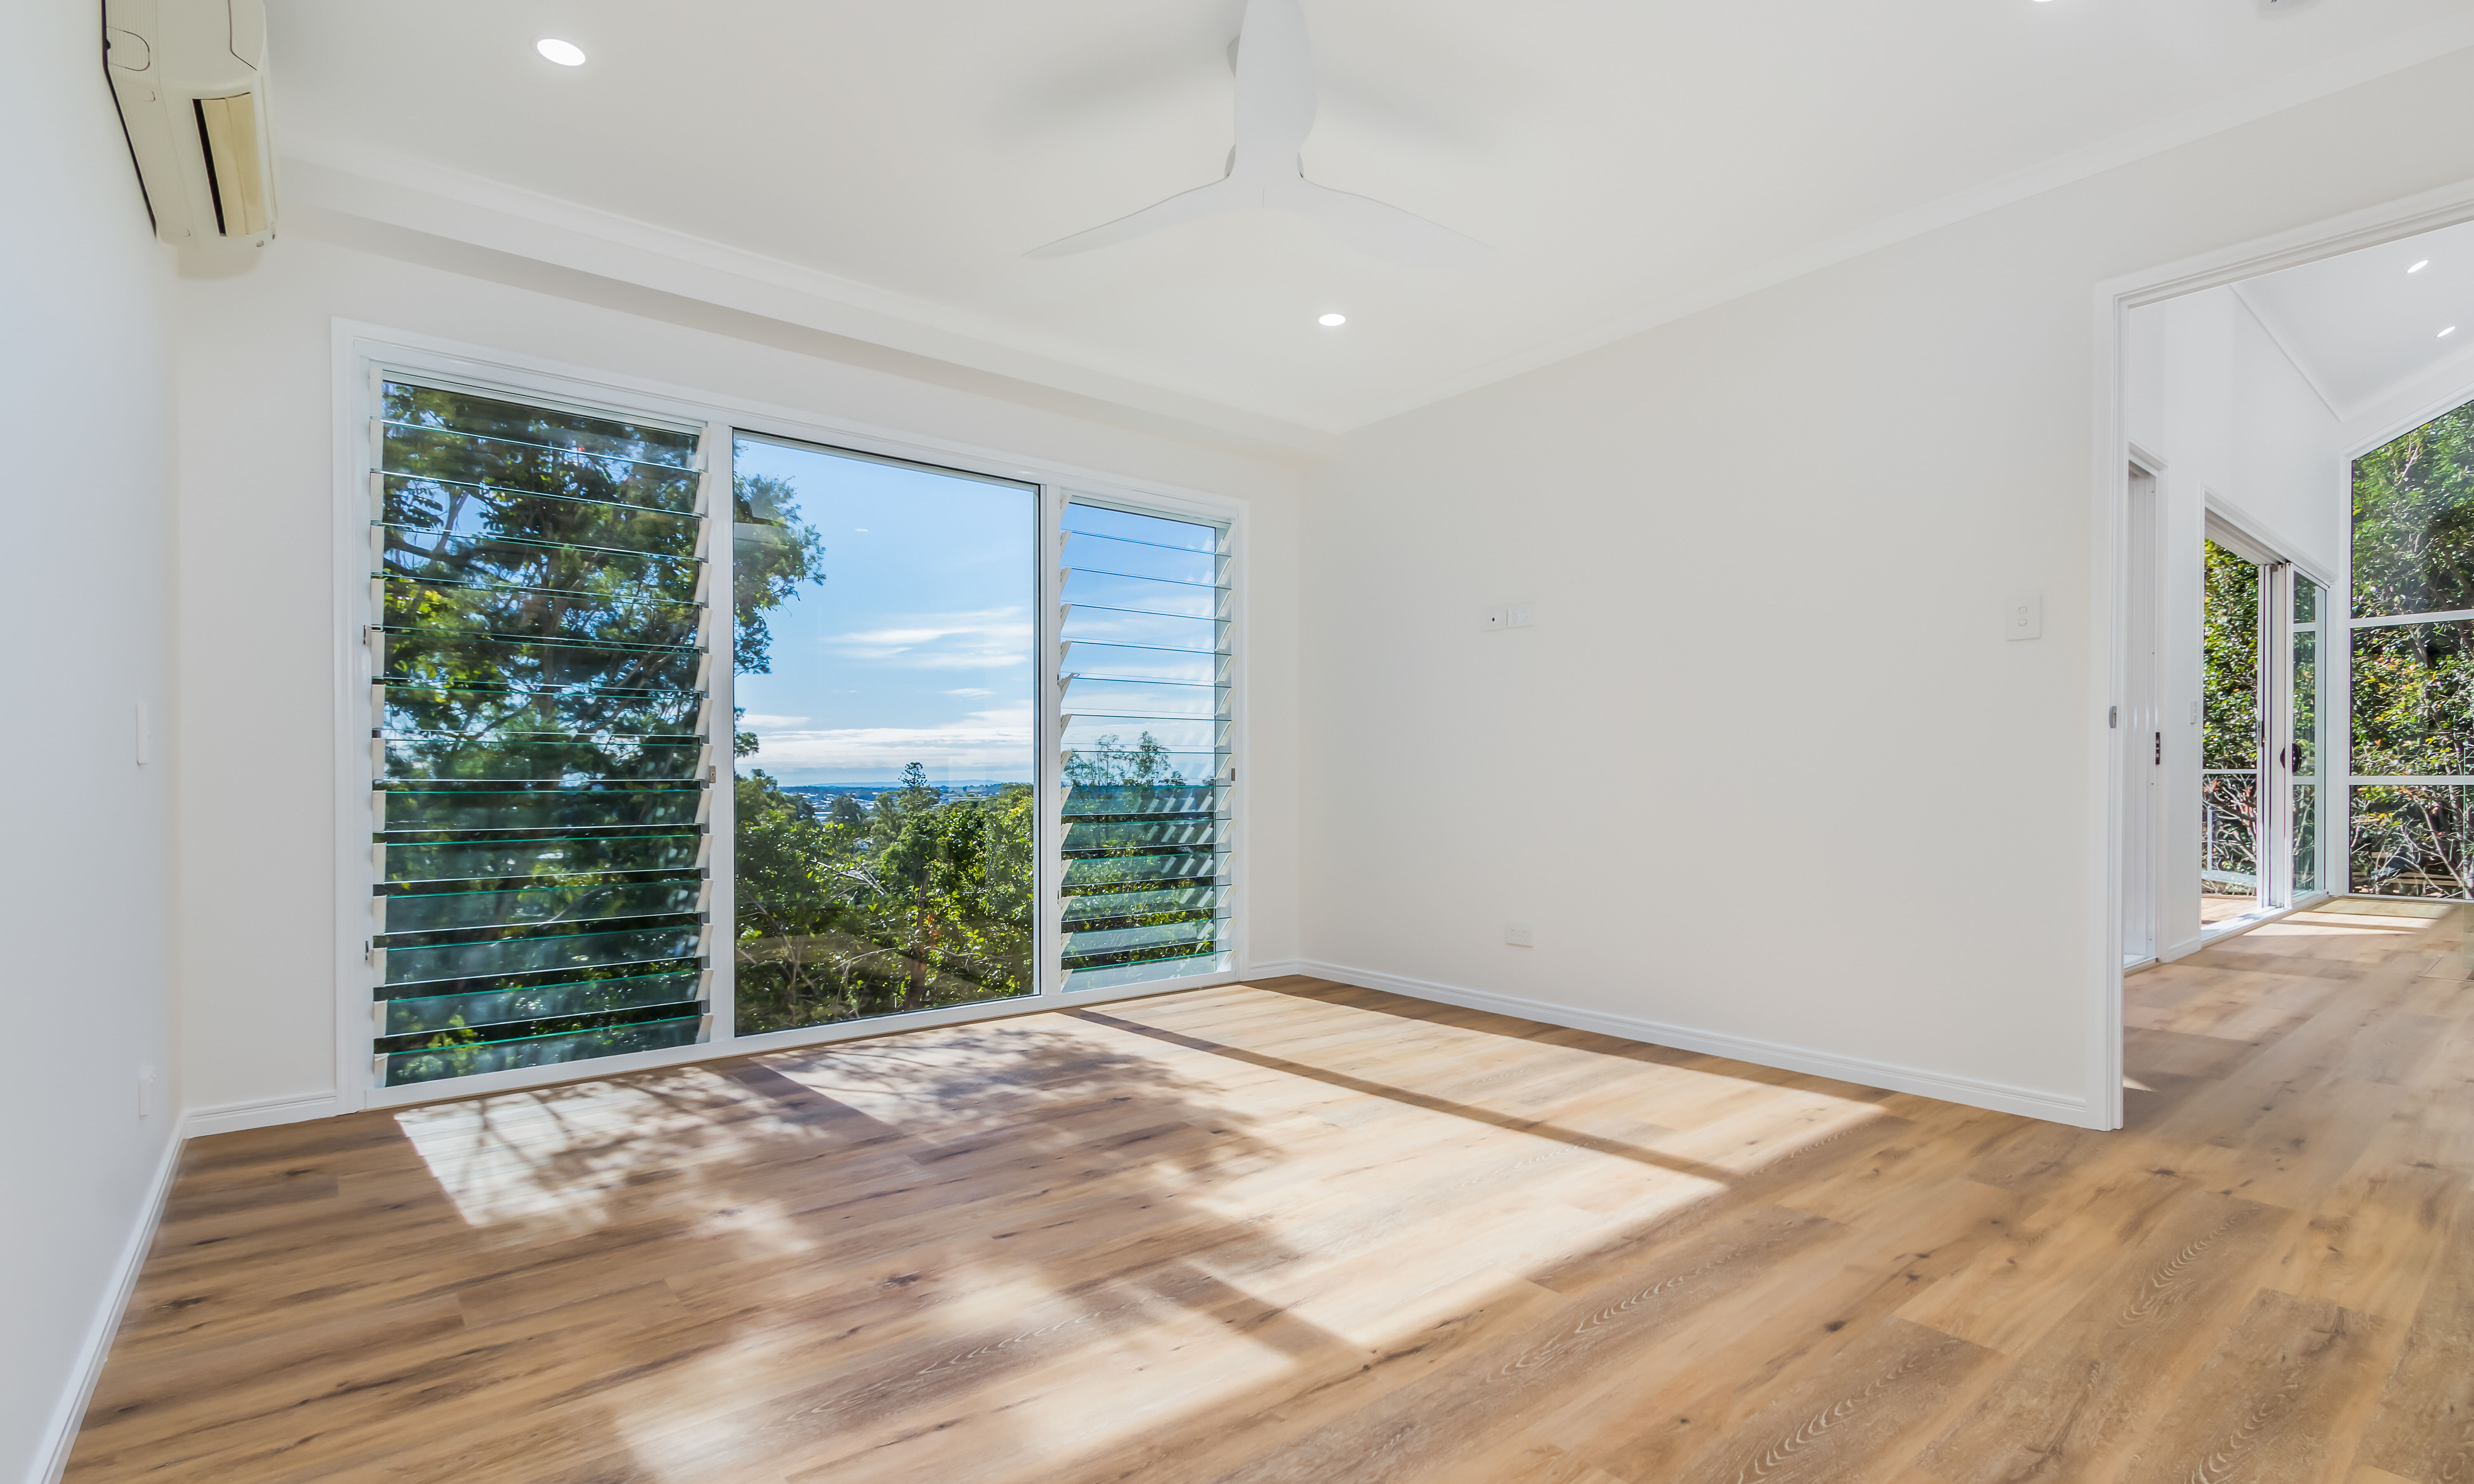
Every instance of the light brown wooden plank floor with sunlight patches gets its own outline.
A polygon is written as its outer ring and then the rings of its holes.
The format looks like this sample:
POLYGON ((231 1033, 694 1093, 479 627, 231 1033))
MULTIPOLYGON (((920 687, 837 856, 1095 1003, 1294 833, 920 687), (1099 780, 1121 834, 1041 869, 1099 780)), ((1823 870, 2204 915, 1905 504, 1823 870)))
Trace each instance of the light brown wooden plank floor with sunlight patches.
POLYGON ((1282 979, 218 1135, 69 1479, 2467 1482, 2449 932, 2135 974, 2125 1133, 1282 979))

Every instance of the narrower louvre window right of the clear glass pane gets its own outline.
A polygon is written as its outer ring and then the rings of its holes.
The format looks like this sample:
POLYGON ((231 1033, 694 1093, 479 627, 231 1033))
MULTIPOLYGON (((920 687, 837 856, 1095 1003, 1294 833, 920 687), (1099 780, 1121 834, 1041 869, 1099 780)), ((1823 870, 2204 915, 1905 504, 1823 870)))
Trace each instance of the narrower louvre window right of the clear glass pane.
POLYGON ((1227 527, 1064 510, 1066 989, 1232 967, 1227 527))

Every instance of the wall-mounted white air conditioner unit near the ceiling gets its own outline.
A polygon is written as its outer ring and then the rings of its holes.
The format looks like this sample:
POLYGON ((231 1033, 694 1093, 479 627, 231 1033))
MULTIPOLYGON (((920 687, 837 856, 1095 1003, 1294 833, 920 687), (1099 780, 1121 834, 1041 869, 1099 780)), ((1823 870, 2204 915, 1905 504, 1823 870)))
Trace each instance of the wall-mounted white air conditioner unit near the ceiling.
POLYGON ((265 0, 104 0, 104 72, 156 235, 265 247, 275 235, 265 0))

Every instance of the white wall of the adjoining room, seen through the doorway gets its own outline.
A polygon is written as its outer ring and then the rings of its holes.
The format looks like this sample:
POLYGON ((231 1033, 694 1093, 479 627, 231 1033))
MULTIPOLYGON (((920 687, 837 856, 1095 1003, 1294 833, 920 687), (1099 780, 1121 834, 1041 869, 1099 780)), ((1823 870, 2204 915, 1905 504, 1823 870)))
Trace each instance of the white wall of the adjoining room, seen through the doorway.
POLYGON ((2123 430, 2157 472, 2165 648, 2165 841, 2157 957, 2199 947, 2199 544, 2207 507, 2345 579, 2345 423, 2232 287, 2123 317, 2123 430))

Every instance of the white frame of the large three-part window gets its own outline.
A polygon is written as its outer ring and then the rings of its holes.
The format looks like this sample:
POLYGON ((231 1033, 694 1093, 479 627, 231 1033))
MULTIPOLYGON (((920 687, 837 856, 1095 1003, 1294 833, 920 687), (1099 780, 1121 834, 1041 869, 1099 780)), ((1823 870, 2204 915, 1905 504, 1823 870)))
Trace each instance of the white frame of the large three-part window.
MULTIPOLYGON (((1111 999, 1138 999, 1145 994, 1170 994, 1178 989, 1202 989, 1232 984, 1252 972, 1247 955, 1247 883, 1252 871, 1252 838, 1247 814, 1247 705, 1252 675, 1247 670, 1247 527, 1249 505, 1242 497, 1185 490, 1148 480, 1128 480, 1106 470, 1091 470, 1047 460, 990 450, 960 440, 878 428, 829 413, 760 403, 750 398, 717 398, 695 388, 594 371, 542 356, 524 356, 492 346, 475 346, 413 331, 361 322, 334 322, 334 1007, 336 1007, 336 1103, 339 1111, 401 1108, 413 1103, 438 1103, 487 1093, 510 1093, 552 1083, 616 1076, 626 1071, 683 1066, 715 1061, 722 1056, 747 1056, 757 1051, 787 1051, 794 1046, 824 1046, 866 1036, 888 1036, 925 1026, 960 1021, 1007 1019, 1054 1009, 1079 1009, 1111 999), (715 735, 732 730, 732 675, 727 663, 730 641, 730 438, 732 433, 757 433, 794 443, 849 448, 908 463, 940 465, 962 472, 990 475, 1009 482, 1039 485, 1039 623, 1034 673, 1047 705, 1037 712, 1034 747, 1039 749, 1039 930, 1034 940, 1034 992, 992 1004, 957 1004, 945 1009, 918 1009, 905 1014, 804 1026, 789 1031, 764 1031, 737 1036, 732 1031, 730 994, 730 925, 732 925, 732 873, 727 871, 732 789, 715 782, 713 799, 713 987, 710 1031, 693 1046, 661 1051, 631 1051, 626 1056, 599 1056, 591 1061, 564 1061, 554 1066, 527 1066, 490 1071, 480 1076, 443 1078, 388 1088, 374 1071, 374 1017, 371 1017, 371 888, 376 863, 369 848, 369 732, 374 725, 366 626, 376 621, 369 601, 369 423, 376 416, 371 371, 401 371, 406 376, 450 378, 477 388, 500 388, 515 398, 549 398, 584 403, 616 413, 641 413, 670 423, 700 423, 708 453, 708 556, 713 559, 713 608, 708 643, 713 646, 713 712, 715 735), (1222 522, 1230 529, 1230 680, 1235 697, 1230 705, 1230 757, 1235 779, 1230 789, 1230 836, 1235 843, 1230 871, 1230 955, 1232 967, 1212 974, 1188 974, 1178 979, 1150 979, 1111 989, 1061 987, 1056 970, 1061 937, 1061 878, 1059 856, 1064 801, 1064 769, 1056 735, 1056 653, 1064 618, 1059 611, 1056 574, 1061 566, 1061 519, 1069 497, 1096 497, 1128 510, 1150 510, 1170 517, 1222 522)), ((725 744, 715 747, 715 764, 727 767, 725 744)))

